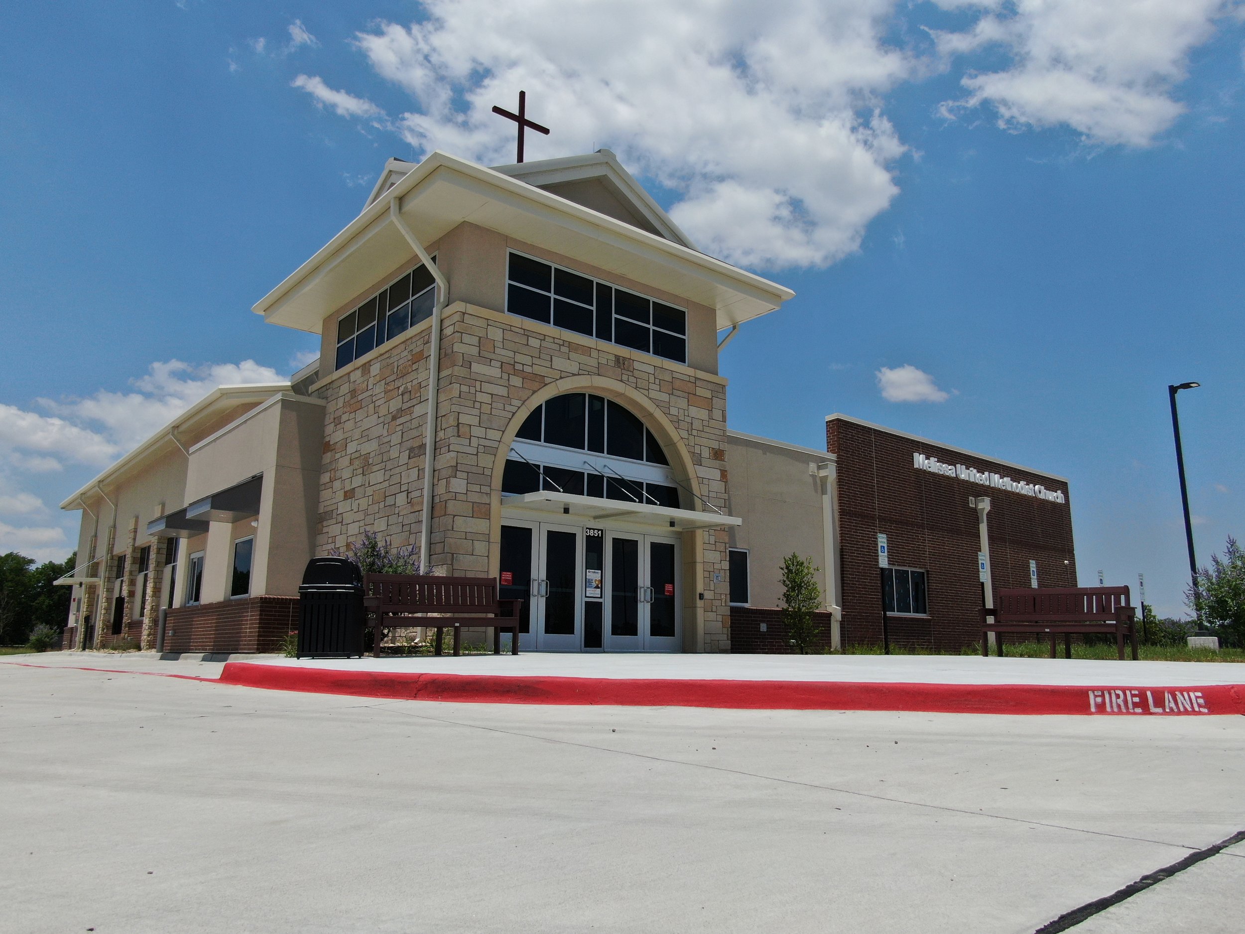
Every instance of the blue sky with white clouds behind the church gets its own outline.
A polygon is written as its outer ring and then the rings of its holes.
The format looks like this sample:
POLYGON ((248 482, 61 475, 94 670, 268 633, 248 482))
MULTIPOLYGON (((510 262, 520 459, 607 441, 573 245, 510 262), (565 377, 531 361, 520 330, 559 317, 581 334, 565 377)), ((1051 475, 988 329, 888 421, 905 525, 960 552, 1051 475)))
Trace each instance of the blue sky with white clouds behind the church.
POLYGON ((1165 387, 1198 380, 1199 557, 1245 532, 1238 6, 494 6, 0 14, 0 549, 62 555, 56 504, 110 460, 214 382, 288 375, 314 340, 250 305, 386 157, 510 161, 488 106, 519 87, 554 131, 529 158, 609 146, 798 293, 723 355, 732 427, 819 447, 839 411, 1064 474, 1082 582, 1144 573, 1175 614, 1165 387))

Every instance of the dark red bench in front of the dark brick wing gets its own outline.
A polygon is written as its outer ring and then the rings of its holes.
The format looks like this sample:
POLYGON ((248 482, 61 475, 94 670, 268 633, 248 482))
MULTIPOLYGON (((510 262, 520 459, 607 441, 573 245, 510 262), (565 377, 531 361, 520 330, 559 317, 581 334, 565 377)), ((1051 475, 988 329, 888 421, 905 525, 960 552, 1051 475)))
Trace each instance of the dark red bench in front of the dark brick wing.
POLYGON ((1124 660, 1127 635, 1133 661, 1137 661, 1135 616, 1135 608, 1129 606, 1127 587, 1021 587, 1000 590, 998 605, 981 609, 981 654, 990 655, 987 633, 995 634, 998 655, 1003 654, 1005 633, 1048 635, 1052 659, 1058 634, 1063 635, 1063 655, 1071 659, 1073 633, 1114 633, 1119 660, 1124 660))

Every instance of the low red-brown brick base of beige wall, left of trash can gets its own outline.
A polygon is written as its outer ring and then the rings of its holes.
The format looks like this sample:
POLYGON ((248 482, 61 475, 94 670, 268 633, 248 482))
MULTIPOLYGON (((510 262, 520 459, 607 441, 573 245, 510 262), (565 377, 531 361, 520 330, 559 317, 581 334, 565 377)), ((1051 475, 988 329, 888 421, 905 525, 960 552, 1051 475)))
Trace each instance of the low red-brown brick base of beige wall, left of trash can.
POLYGON ((168 611, 164 651, 268 653, 299 628, 299 598, 248 597, 168 611))

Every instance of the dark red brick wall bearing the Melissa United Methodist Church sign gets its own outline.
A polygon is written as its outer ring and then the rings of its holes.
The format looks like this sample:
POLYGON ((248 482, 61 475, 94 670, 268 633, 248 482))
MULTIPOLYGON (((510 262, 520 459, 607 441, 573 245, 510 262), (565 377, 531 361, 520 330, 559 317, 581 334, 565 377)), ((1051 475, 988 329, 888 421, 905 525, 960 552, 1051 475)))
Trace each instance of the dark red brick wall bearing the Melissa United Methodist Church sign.
POLYGON ((977 513, 969 497, 990 497, 996 590, 1028 587, 1031 558, 1041 587, 1077 585, 1072 503, 1063 481, 843 420, 825 423, 825 446, 838 456, 845 645, 881 641, 878 533, 886 535, 890 564, 926 570, 929 587, 929 619, 891 616, 891 638, 939 651, 981 639, 977 513), (918 469, 914 452, 1059 489, 1067 502, 918 469))

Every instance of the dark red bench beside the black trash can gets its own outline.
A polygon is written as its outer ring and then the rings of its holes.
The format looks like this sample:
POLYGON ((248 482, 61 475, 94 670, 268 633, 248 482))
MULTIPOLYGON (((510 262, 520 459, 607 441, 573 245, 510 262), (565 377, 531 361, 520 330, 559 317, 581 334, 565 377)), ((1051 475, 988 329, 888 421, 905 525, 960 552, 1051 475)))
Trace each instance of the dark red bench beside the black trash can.
POLYGON ((492 628, 494 655, 502 651, 502 630, 509 630, 510 654, 518 655, 522 604, 497 598, 497 578, 364 574, 364 609, 372 628, 374 658, 381 654, 383 629, 420 626, 437 630, 437 655, 447 629, 454 630, 454 655, 462 655, 463 626, 492 628))

